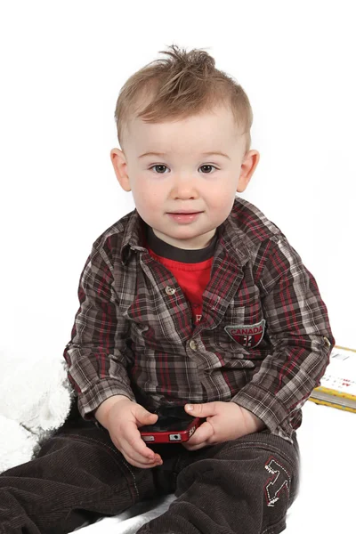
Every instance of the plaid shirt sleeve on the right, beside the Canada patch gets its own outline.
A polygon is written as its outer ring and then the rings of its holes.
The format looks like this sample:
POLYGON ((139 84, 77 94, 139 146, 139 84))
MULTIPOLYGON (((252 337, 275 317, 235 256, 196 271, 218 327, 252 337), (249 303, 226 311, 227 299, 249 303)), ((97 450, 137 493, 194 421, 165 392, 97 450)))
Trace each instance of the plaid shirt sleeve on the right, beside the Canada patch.
POLYGON ((259 284, 272 351, 231 401, 290 440, 291 420, 320 384, 335 340, 317 283, 287 239, 266 257, 259 284))

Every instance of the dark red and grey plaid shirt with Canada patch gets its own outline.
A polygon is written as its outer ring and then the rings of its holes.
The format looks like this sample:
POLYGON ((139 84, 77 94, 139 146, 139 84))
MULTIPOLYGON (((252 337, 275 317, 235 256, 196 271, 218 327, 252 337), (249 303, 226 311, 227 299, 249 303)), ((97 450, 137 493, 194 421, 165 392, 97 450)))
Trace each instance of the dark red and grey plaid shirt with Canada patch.
POLYGON ((64 357, 82 417, 115 394, 147 409, 232 401, 290 441, 335 343, 300 256, 235 198, 195 325, 173 274, 143 246, 145 224, 134 210, 110 226, 81 273, 64 357))

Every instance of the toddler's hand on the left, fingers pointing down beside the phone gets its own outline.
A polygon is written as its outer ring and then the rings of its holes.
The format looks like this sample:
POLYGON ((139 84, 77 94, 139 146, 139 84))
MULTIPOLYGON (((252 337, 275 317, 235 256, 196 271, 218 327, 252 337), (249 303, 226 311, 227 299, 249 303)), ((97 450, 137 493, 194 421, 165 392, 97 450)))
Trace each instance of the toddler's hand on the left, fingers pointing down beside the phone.
POLYGON ((140 426, 153 425, 157 419, 157 414, 130 399, 117 401, 109 409, 107 429, 111 441, 129 464, 143 468, 162 464, 161 457, 147 447, 138 430, 140 426))

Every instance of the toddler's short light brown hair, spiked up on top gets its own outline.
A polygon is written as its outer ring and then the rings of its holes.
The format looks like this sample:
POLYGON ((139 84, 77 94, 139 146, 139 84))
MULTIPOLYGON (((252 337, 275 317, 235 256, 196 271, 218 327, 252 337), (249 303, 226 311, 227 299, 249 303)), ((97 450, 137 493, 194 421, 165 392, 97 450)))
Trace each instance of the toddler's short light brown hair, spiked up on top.
POLYGON ((121 147, 131 117, 149 123, 190 117, 217 104, 230 104, 236 124, 250 149, 253 113, 247 94, 232 77, 215 68, 215 60, 201 49, 187 52, 168 46, 168 58, 151 61, 127 79, 115 109, 121 147), (142 109, 142 102, 147 103, 142 109))

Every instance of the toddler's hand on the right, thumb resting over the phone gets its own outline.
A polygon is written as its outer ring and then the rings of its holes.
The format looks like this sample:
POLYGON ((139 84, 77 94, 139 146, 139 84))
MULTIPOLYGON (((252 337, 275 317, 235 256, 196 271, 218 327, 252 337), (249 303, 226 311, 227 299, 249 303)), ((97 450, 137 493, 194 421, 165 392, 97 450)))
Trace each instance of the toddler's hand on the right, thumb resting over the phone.
POLYGON ((264 428, 264 423, 252 412, 235 402, 206 402, 205 404, 186 404, 185 410, 190 416, 206 417, 206 422, 199 426, 189 441, 182 443, 188 450, 197 450, 207 445, 236 440, 249 433, 264 428), (193 409, 189 410, 188 407, 193 409))

